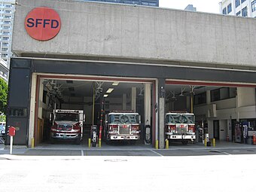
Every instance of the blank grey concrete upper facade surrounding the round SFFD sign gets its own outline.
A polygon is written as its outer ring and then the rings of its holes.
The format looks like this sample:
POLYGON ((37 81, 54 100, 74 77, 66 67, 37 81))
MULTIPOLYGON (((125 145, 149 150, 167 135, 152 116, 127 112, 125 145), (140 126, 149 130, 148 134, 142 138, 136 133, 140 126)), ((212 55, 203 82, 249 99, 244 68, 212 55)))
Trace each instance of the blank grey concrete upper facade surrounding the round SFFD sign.
POLYGON ((95 2, 24 0, 15 14, 13 51, 18 56, 152 59, 250 69, 256 67, 255 31, 256 20, 248 18, 95 2), (40 6, 55 9, 62 20, 59 34, 51 41, 35 41, 24 28, 26 15, 40 6))

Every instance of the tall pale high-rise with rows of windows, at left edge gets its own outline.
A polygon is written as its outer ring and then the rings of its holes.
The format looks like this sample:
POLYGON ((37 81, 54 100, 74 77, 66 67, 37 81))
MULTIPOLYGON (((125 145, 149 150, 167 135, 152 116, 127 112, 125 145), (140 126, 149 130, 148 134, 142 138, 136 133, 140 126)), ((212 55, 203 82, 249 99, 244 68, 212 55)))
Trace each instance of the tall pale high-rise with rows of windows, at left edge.
POLYGON ((15 0, 0 1, 0 56, 10 66, 15 0))

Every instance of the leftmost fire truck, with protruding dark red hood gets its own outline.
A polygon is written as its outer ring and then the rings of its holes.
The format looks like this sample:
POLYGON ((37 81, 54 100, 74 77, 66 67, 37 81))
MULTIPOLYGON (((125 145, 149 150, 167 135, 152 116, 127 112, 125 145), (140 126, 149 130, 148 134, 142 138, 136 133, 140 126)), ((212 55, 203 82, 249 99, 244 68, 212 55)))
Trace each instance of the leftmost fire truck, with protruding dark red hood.
POLYGON ((56 139, 74 141, 80 144, 83 138, 84 111, 54 109, 50 117, 52 126, 50 128, 50 141, 56 139))

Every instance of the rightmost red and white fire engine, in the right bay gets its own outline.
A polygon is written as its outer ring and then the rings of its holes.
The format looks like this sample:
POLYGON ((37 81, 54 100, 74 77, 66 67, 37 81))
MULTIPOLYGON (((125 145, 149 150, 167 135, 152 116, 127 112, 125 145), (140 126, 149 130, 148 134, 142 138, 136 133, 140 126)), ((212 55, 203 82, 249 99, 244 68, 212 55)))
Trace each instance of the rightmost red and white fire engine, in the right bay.
POLYGON ((187 112, 166 113, 166 139, 187 145, 196 139, 195 116, 187 112))

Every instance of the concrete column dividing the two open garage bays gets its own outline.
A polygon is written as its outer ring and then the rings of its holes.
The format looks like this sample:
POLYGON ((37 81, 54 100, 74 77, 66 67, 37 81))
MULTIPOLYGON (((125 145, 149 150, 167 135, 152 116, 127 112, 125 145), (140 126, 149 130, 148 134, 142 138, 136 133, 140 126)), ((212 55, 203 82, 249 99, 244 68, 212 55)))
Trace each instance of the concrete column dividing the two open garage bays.
POLYGON ((165 79, 158 79, 158 140, 159 140, 159 148, 163 149, 165 146, 165 135, 164 135, 164 126, 165 126, 165 99, 166 99, 166 82, 165 79))

